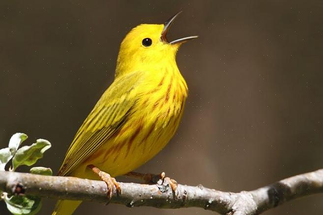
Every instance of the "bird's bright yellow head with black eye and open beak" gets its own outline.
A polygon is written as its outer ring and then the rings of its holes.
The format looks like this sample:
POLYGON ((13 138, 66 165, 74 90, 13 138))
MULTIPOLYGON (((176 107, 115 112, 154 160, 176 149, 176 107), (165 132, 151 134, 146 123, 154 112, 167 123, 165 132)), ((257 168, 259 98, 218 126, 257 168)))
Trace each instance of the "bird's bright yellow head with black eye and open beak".
POLYGON ((163 63, 176 63, 176 52, 179 46, 198 37, 188 36, 168 41, 167 32, 179 13, 172 16, 165 24, 142 24, 125 36, 117 58, 116 77, 163 63))

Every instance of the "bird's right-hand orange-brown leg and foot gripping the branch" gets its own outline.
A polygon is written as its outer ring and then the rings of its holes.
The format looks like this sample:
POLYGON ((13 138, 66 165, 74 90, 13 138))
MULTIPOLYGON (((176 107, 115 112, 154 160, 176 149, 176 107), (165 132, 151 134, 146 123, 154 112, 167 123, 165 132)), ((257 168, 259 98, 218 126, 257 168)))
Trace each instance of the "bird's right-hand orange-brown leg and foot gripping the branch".
POLYGON ((136 179, 141 179, 146 183, 157 183, 159 180, 167 180, 168 183, 171 185, 172 190, 175 192, 177 188, 177 182, 174 179, 170 179, 169 177, 165 177, 165 173, 162 172, 158 175, 151 174, 151 173, 138 173, 138 172, 128 172, 125 176, 133 177, 136 179))

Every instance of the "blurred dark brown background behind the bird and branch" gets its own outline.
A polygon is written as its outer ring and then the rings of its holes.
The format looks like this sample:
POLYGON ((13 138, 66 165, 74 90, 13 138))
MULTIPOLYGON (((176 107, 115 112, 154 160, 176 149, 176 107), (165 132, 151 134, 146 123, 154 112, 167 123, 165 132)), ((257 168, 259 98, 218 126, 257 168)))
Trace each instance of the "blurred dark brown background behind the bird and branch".
MULTIPOLYGON (((53 147, 37 165, 56 172, 113 81, 125 34, 179 10, 170 38, 200 35, 177 55, 186 110, 170 144, 138 171, 240 191, 323 168, 321 0, 0 1, 1 148, 19 131, 29 144, 48 139, 53 147)), ((322 215, 322 201, 310 196, 265 214, 322 215)), ((44 200, 40 214, 54 204, 44 200)), ((85 203, 76 215, 97 213, 212 214, 85 203)))

